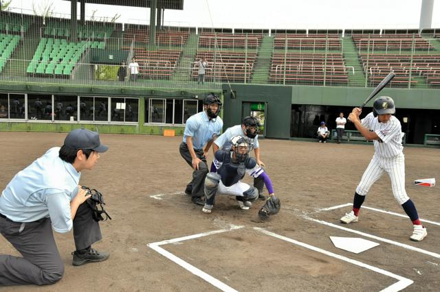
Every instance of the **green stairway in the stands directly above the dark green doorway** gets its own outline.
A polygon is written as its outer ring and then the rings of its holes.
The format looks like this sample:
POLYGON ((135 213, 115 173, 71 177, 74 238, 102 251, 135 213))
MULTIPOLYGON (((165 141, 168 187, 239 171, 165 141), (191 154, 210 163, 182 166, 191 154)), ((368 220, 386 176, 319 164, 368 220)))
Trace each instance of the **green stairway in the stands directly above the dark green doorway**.
POLYGON ((274 45, 273 36, 264 36, 261 41, 259 51, 256 55, 254 63, 254 71, 252 72, 252 80, 250 83, 267 84, 269 83, 270 64, 272 59, 272 47, 274 45))

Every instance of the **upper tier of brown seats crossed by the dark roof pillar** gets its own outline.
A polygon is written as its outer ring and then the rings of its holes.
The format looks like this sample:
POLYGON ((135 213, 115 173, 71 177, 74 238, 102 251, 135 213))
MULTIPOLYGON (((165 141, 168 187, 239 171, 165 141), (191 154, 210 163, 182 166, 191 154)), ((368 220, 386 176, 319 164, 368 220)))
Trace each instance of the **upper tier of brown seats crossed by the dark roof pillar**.
MULTIPOLYGON (((157 45, 173 45, 181 46, 186 43, 189 36, 189 32, 179 32, 179 31, 157 31, 156 32, 156 43, 157 45)), ((135 29, 130 28, 124 32, 124 40, 126 42, 142 42, 148 44, 150 42, 150 32, 148 28, 146 29, 135 29)))

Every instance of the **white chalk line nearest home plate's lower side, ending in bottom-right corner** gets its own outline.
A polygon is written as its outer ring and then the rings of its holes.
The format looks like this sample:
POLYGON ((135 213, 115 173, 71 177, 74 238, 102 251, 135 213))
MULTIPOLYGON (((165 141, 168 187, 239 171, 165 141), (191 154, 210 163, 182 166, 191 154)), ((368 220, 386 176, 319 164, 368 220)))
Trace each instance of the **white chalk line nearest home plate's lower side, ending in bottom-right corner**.
POLYGON ((322 250, 319 247, 314 247, 313 245, 308 245, 307 243, 302 243, 302 242, 296 241, 294 239, 289 239, 288 237, 276 234, 274 232, 264 230, 263 228, 254 227, 254 230, 258 230, 259 232, 262 232, 263 234, 275 237, 276 239, 281 239, 283 241, 287 241, 287 242, 293 243, 295 245, 300 245, 301 247, 305 247, 308 250, 313 250, 314 252, 319 252, 320 254, 325 254, 325 255, 331 256, 333 258, 338 258, 339 260, 343 260, 347 263, 351 263, 351 264, 357 265, 359 267, 364 267, 364 268, 369 269, 371 271, 375 271, 376 273, 381 273, 384 276, 388 276, 388 277, 395 278, 396 280, 398 280, 398 282, 396 282, 395 284, 392 284, 391 286, 386 287, 382 291, 387 291, 387 292, 400 291, 402 289, 405 289, 406 287, 408 287, 410 284, 412 284, 414 282, 408 278, 404 278, 402 276, 396 275, 395 273, 385 271, 384 269, 373 267, 371 265, 367 265, 365 263, 362 263, 358 260, 353 260, 353 259, 347 258, 345 256, 340 256, 339 254, 333 254, 333 252, 327 252, 327 250, 322 250))

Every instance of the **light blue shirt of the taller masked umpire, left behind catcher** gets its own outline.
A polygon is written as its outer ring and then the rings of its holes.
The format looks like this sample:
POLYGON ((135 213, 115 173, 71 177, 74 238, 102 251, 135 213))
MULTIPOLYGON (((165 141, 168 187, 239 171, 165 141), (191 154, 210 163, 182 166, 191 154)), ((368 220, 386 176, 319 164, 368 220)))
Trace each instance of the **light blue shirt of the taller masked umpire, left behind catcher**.
POLYGON ((203 146, 212 139, 214 135, 219 135, 223 128, 223 121, 220 117, 209 120, 208 114, 203 110, 197 114, 193 114, 186 120, 184 142, 186 137, 192 137, 192 147, 194 149, 203 149, 203 146))

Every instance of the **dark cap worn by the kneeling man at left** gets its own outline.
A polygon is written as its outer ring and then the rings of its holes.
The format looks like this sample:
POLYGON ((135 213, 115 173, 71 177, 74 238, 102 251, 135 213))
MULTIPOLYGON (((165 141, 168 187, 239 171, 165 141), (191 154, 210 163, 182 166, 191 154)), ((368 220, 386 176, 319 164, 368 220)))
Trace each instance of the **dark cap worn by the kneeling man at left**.
POLYGON ((74 149, 92 149, 99 153, 109 149, 109 147, 100 143, 98 132, 87 129, 76 129, 67 134, 64 145, 74 149))

